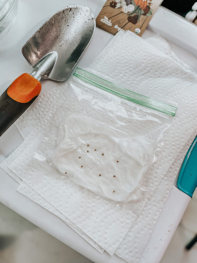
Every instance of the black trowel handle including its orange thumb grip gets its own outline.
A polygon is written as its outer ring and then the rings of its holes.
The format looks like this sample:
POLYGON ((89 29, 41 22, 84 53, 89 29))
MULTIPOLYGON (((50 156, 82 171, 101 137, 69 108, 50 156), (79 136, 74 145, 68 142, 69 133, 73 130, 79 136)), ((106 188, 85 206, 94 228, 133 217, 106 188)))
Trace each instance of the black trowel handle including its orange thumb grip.
POLYGON ((0 96, 0 136, 32 104, 40 90, 40 82, 24 73, 3 92, 0 96))

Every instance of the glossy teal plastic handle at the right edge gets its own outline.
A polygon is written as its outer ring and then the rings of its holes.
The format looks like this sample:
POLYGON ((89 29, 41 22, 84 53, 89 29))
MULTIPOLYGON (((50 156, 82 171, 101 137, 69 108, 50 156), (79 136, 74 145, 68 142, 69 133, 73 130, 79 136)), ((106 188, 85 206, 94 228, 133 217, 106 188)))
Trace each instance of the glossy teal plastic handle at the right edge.
POLYGON ((179 173, 177 186, 190 197, 192 197, 197 187, 197 136, 185 156, 179 173))

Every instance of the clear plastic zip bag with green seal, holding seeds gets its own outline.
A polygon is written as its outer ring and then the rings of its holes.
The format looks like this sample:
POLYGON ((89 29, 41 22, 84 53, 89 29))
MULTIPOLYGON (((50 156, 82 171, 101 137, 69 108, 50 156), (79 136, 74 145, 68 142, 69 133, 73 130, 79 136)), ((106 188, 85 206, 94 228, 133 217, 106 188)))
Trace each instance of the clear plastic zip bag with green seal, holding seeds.
POLYGON ((34 157, 63 183, 112 203, 138 200, 177 108, 78 68, 66 94, 34 157))

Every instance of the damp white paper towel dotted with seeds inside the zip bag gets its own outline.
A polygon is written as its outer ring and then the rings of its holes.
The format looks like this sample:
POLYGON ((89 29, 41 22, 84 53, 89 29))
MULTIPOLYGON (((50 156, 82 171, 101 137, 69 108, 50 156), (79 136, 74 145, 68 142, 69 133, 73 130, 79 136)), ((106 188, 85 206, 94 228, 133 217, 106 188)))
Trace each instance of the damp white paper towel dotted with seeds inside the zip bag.
POLYGON ((121 138, 103 123, 72 114, 60 125, 51 160, 64 176, 93 193, 130 201, 153 159, 153 141, 130 136, 121 138))

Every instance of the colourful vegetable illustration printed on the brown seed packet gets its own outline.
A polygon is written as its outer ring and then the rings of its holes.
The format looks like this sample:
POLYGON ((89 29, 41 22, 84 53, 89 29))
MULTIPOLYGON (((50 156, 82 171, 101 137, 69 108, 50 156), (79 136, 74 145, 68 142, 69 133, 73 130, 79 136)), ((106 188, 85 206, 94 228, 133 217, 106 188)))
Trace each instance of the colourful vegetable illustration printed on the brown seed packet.
POLYGON ((151 9, 152 0, 116 0, 110 2, 110 7, 120 9, 121 12, 127 14, 128 22, 136 24, 141 15, 151 16, 153 9, 151 9))

